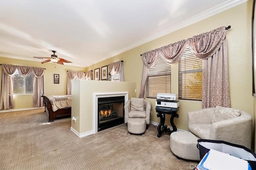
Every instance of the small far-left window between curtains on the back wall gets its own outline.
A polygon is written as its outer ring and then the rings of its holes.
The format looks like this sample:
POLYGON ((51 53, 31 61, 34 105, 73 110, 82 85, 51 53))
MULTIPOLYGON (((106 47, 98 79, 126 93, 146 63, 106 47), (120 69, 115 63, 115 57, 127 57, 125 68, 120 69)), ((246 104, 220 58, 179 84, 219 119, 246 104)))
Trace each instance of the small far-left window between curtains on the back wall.
POLYGON ((28 77, 20 76, 18 70, 11 76, 13 84, 13 94, 33 93, 33 71, 28 77))

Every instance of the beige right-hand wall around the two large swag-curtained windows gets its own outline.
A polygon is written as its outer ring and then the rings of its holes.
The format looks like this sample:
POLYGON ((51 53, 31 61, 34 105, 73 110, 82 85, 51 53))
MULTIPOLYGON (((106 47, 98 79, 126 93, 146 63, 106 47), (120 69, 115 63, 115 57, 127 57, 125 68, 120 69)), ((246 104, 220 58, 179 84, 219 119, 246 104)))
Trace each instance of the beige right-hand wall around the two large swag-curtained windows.
MULTIPOLYGON (((139 94, 142 59, 140 54, 156 48, 168 45, 190 38, 192 36, 208 32, 220 26, 231 26, 228 30, 228 57, 229 57, 229 80, 230 96, 232 108, 244 110, 253 114, 252 98, 252 54, 251 54, 251 17, 252 17, 252 0, 230 8, 224 12, 206 18, 200 22, 172 32, 166 36, 128 50, 122 54, 104 60, 97 64, 87 67, 87 70, 94 70, 112 62, 119 60, 124 61, 124 80, 135 81, 137 83, 137 96, 139 94)), ((145 28, 146 29, 146 28, 145 28)), ((172 64, 172 93, 178 94, 178 63, 172 64)), ((158 122, 156 117, 155 101, 148 99, 152 103, 153 115, 150 120, 158 122)), ((201 102, 180 100, 179 118, 174 122, 178 129, 188 130, 187 112, 201 108, 201 102)), ((170 121, 166 118, 166 124, 170 126, 170 121)))

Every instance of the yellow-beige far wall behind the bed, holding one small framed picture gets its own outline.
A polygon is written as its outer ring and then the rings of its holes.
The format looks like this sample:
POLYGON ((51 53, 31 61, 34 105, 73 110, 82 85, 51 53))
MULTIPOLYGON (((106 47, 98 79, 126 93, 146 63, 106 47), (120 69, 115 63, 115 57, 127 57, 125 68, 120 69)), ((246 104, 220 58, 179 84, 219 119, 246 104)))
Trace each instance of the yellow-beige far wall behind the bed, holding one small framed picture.
MULTIPOLYGON (((19 65, 19 66, 46 68, 46 70, 44 70, 46 96, 66 94, 68 70, 85 71, 85 68, 82 68, 82 67, 56 64, 56 68, 55 68, 53 63, 42 64, 41 62, 18 60, 18 59, 12 59, 12 58, 4 58, 4 57, 0 57, 0 64, 12 64, 12 65, 19 65), (54 74, 60 74, 59 76, 60 84, 54 84, 53 82, 54 74)), ((2 77, 2 68, 0 69, 0 75, 2 77)), ((1 87, 1 84, 2 84, 2 79, 0 79, 0 87, 1 87)), ((22 109, 22 108, 33 108, 32 94, 14 95, 14 109, 22 109)))

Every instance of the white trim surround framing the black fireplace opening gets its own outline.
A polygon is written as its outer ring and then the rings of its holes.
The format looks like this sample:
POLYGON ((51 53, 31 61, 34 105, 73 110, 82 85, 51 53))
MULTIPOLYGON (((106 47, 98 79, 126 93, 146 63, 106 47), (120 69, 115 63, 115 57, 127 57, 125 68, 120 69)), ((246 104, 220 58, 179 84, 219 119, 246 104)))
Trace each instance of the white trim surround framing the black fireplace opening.
MULTIPOLYGON (((124 96, 124 104, 128 101, 128 92, 105 92, 105 93, 93 93, 92 94, 92 107, 93 107, 93 127, 92 132, 96 134, 98 132, 98 98, 124 96)), ((124 120, 125 122, 125 120, 124 120)))

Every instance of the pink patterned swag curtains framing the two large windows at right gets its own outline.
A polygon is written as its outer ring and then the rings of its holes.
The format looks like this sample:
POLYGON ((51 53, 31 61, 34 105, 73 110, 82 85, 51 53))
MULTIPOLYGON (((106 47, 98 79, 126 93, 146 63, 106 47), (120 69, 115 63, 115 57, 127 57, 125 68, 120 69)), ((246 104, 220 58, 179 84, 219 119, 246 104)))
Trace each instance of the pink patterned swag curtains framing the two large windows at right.
POLYGON ((158 61, 159 56, 157 52, 159 51, 159 54, 167 63, 173 64, 180 60, 188 45, 192 52, 202 59, 202 108, 216 106, 231 107, 227 32, 228 29, 222 26, 210 32, 142 54, 144 65, 139 97, 145 97, 148 72, 158 61))

